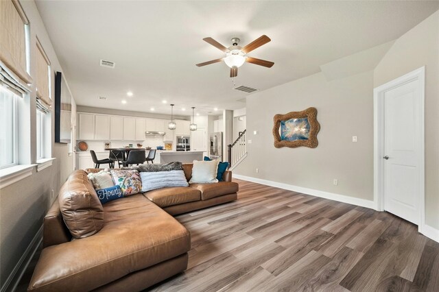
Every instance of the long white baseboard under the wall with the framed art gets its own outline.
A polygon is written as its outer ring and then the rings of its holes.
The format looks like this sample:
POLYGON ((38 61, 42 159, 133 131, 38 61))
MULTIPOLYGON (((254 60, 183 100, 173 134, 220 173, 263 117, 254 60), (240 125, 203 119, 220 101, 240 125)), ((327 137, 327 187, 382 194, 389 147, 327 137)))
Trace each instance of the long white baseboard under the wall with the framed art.
POLYGON ((282 182, 273 182, 272 180, 262 180, 261 178, 252 178, 246 175, 239 175, 233 173, 233 178, 239 180, 247 180, 248 182, 256 182, 258 184, 265 184, 266 186, 274 186, 276 188, 283 188, 288 191, 294 191, 298 193, 304 193, 306 195, 313 195, 316 197, 322 197, 324 199, 332 199, 333 201, 342 202, 346 204, 352 204, 365 208, 376 210, 376 204, 373 201, 367 199, 359 199, 357 197, 348 197, 346 195, 339 195, 335 193, 329 193, 325 191, 314 190, 313 188, 304 188, 302 186, 293 186, 292 184, 284 184, 282 182))

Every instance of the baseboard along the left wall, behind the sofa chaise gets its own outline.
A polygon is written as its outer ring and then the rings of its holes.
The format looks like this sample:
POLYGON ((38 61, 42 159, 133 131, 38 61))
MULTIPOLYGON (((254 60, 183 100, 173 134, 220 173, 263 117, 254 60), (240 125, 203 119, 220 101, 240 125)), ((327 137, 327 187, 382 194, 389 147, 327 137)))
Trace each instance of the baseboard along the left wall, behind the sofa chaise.
POLYGON ((14 269, 8 276, 8 279, 6 279, 5 284, 3 284, 3 287, 1 287, 0 292, 15 291, 21 280, 21 277, 23 277, 23 273, 26 271, 27 266, 34 257, 35 252, 38 250, 38 246, 40 246, 40 243, 43 240, 42 234, 43 226, 41 226, 38 232, 36 232, 34 238, 21 256, 19 263, 16 263, 14 269))

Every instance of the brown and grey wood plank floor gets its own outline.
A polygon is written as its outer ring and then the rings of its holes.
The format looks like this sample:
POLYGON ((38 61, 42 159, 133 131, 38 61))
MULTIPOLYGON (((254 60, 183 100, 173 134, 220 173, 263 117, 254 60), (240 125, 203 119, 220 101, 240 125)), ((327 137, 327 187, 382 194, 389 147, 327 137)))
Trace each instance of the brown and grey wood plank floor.
POLYGON ((439 243, 412 223, 235 181, 237 201, 176 217, 189 267, 147 291, 439 291, 439 243))

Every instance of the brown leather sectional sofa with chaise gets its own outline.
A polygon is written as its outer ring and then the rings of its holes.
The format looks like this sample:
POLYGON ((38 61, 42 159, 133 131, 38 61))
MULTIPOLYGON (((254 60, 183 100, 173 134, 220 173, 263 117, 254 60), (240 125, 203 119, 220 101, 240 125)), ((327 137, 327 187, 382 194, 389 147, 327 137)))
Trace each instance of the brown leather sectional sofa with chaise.
MULTIPOLYGON (((189 181, 192 165, 183 165, 183 170, 189 181)), ((90 202, 97 197, 86 172, 73 172, 44 218, 43 251, 28 291, 141 291, 185 271, 191 235, 171 215, 237 199, 232 173, 226 171, 223 178, 215 184, 160 188, 108 202, 102 205, 102 229, 72 240, 60 210, 65 193, 85 192, 90 202)), ((76 208, 71 216, 78 221, 83 212, 93 212, 91 207, 76 208)), ((75 227, 79 232, 93 229, 75 227)))

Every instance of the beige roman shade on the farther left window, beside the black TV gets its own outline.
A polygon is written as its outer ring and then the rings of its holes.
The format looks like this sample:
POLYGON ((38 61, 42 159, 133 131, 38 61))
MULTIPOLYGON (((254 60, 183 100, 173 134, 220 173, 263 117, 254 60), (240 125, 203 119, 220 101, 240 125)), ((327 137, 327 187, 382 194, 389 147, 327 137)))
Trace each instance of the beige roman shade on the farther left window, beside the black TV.
POLYGON ((40 44, 38 38, 36 39, 36 97, 44 101, 47 106, 51 106, 51 99, 49 95, 49 58, 40 44))

